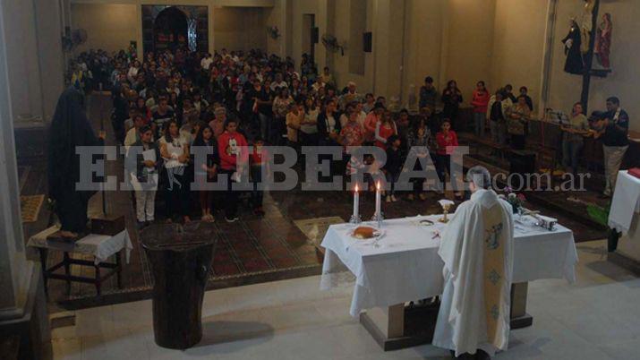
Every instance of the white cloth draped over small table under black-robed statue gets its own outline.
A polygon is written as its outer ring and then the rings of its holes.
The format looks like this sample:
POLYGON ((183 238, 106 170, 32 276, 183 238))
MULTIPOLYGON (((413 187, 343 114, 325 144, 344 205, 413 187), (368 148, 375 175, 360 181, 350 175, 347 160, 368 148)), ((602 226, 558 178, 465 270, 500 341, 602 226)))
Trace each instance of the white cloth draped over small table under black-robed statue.
POLYGON ((47 241, 47 236, 54 234, 60 230, 60 227, 49 227, 38 234, 31 236, 27 246, 46 248, 48 250, 57 250, 67 253, 83 253, 91 255, 95 258, 94 262, 98 265, 100 262, 107 261, 109 256, 125 250, 125 261, 129 263, 129 256, 133 249, 129 232, 126 230, 115 236, 90 234, 82 237, 76 242, 65 243, 63 241, 47 241))

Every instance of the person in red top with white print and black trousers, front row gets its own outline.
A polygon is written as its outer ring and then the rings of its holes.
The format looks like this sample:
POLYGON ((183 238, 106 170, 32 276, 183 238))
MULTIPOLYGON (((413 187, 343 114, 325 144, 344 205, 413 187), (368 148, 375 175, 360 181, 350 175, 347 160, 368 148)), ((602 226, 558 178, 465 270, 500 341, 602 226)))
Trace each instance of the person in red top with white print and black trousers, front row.
POLYGON ((225 132, 218 137, 218 154, 220 169, 218 174, 227 176, 228 188, 225 193, 225 220, 232 223, 238 220, 238 192, 233 189, 243 174, 247 162, 247 141, 242 133, 237 132, 235 119, 227 119, 225 132))

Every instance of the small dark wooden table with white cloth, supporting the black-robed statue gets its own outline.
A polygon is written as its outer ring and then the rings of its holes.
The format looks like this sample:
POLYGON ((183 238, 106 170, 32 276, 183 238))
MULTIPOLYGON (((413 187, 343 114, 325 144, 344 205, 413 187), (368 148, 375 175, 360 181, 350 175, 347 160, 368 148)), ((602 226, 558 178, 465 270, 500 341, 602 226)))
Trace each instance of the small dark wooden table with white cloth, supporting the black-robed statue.
POLYGON ((133 245, 129 233, 124 230, 115 236, 90 234, 82 237, 76 242, 49 241, 47 236, 58 231, 59 227, 49 227, 38 234, 31 236, 27 246, 38 249, 40 262, 42 264, 42 274, 45 282, 45 293, 48 296, 48 279, 60 279, 66 281, 67 294, 71 292, 71 282, 83 282, 95 285, 98 296, 102 294, 102 282, 114 274, 117 277, 117 285, 122 287, 122 252, 124 251, 125 261, 129 263, 129 256, 133 245), (50 268, 47 268, 47 257, 49 251, 63 252, 63 261, 60 261, 50 268), (91 255, 94 261, 73 259, 70 253, 82 253, 91 255), (107 259, 115 255, 115 262, 107 262, 107 259), (95 269, 93 278, 76 276, 71 274, 71 265, 91 266, 95 269), (55 270, 64 268, 64 274, 56 273, 55 270), (101 269, 108 269, 102 273, 101 269))

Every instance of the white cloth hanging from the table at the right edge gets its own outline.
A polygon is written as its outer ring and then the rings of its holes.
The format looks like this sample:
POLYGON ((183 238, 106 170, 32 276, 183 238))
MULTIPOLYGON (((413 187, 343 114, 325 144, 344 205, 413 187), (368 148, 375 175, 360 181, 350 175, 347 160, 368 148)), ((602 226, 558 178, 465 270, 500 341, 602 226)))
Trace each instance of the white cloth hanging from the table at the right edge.
POLYGON ((640 179, 620 171, 609 211, 609 227, 627 233, 636 212, 640 212, 640 179))

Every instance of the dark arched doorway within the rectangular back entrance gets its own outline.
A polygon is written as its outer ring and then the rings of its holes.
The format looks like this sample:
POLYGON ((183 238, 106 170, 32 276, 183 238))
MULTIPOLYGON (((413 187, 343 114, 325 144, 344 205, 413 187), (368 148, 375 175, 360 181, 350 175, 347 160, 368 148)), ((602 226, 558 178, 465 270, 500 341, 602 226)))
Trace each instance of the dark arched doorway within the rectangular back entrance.
POLYGON ((153 26, 153 47, 156 52, 189 46, 189 21, 175 6, 158 13, 153 26))

